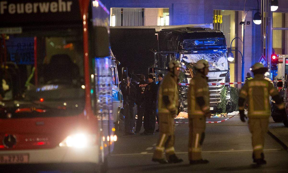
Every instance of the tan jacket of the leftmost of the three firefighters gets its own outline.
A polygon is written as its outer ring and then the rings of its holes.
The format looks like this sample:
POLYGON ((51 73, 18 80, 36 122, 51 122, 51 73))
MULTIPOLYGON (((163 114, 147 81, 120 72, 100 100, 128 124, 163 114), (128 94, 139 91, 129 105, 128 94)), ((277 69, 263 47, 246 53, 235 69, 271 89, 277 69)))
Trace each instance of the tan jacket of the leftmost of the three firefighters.
MULTIPOLYGON (((160 85, 158 93, 158 112, 167 113, 178 112, 179 105, 179 91, 178 91, 178 78, 171 72, 164 77, 160 85)), ((174 119, 173 115, 173 119, 174 119)), ((173 120, 174 121, 174 120, 173 120)))

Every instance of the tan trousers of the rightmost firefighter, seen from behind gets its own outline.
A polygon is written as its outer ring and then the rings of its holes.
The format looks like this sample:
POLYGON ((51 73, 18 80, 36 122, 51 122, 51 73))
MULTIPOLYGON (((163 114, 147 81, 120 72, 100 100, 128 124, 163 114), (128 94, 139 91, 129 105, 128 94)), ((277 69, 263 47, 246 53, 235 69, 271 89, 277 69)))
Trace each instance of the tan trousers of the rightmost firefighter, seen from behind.
POLYGON ((261 159, 264 155, 265 135, 268 131, 268 118, 249 119, 249 130, 252 133, 253 158, 261 159), (263 156, 261 156, 261 154, 263 156))

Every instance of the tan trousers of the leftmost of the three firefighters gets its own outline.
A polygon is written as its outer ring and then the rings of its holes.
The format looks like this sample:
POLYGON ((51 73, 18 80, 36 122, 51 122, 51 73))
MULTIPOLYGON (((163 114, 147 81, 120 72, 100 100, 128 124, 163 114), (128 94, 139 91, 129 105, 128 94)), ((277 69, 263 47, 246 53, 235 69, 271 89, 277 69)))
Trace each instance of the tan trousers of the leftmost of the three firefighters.
POLYGON ((160 132, 160 138, 159 138, 158 143, 156 145, 156 149, 154 151, 153 158, 154 159, 163 159, 164 158, 164 151, 165 151, 166 159, 169 159, 170 155, 175 154, 174 143, 175 143, 174 133, 168 134, 168 133, 160 132))

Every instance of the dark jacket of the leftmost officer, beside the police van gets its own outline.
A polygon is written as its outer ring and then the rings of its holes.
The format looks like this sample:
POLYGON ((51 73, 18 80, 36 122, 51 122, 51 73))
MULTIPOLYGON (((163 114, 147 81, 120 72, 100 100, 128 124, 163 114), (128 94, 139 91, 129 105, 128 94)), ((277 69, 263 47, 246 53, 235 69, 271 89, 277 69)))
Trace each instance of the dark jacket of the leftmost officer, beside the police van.
POLYGON ((130 87, 127 87, 126 84, 121 82, 120 89, 123 94, 123 104, 134 106, 137 98, 136 87, 132 83, 130 83, 130 87))

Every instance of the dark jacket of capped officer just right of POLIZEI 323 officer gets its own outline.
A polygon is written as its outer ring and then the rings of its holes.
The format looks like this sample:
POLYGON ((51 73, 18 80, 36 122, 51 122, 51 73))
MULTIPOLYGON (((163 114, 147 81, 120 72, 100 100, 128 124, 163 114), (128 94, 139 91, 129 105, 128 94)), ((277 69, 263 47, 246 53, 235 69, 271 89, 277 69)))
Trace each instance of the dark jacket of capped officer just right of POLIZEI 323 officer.
POLYGON ((144 92, 144 101, 141 107, 151 109, 156 109, 156 101, 158 94, 158 86, 155 82, 151 82, 147 85, 147 88, 144 92))

